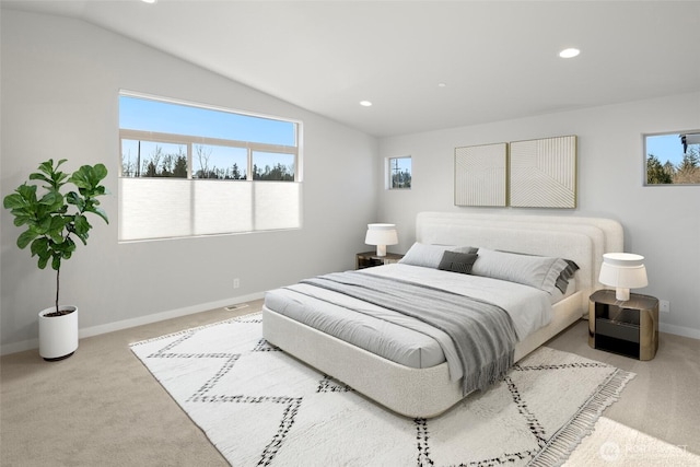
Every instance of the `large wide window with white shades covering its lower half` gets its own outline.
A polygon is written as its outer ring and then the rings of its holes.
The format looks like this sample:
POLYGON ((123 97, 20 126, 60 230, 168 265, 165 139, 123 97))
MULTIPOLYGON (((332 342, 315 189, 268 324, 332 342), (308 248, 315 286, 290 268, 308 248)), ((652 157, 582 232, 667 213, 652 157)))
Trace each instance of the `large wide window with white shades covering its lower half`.
POLYGON ((301 124, 119 96, 119 241, 301 226, 301 124))

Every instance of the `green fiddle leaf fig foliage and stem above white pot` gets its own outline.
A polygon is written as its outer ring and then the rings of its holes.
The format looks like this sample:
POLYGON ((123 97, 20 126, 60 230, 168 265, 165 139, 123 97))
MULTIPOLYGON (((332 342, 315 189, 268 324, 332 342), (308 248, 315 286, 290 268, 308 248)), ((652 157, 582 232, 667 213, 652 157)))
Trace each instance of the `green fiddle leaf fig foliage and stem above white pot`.
POLYGON ((109 223, 97 199, 108 192, 101 185, 107 176, 105 165, 83 165, 69 175, 59 171, 65 162, 66 159, 61 159, 54 165, 49 159, 39 165, 39 172, 30 175, 28 180, 44 183, 43 191, 37 192, 36 184, 25 182, 3 199, 3 207, 14 215, 14 225, 26 225, 18 237, 18 246, 21 249, 30 246, 32 257, 38 257, 39 269, 45 269, 50 261, 56 271, 57 315, 61 314, 58 308, 61 261, 70 259, 75 250, 73 238, 88 245, 92 225, 85 214, 95 214, 109 223), (68 184, 74 185, 78 191, 66 192, 68 184))

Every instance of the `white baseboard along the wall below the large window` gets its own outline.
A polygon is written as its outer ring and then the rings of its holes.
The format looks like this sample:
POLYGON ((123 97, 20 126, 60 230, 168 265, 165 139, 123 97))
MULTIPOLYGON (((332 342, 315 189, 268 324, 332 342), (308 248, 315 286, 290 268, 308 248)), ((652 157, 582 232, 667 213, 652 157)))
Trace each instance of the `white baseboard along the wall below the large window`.
MULTIPOLYGON (((199 305, 186 306, 184 308, 171 310, 168 312, 154 313, 152 315, 140 316, 138 318, 124 319, 115 323, 107 323, 100 326, 91 326, 79 330, 81 339, 86 337, 100 336, 102 334, 114 332, 116 330, 128 329, 137 326, 149 325, 151 323, 164 322, 165 319, 178 318, 180 316, 194 315, 195 313, 207 312, 209 310, 222 308, 232 304, 252 302, 260 300, 265 296, 265 292, 253 293, 234 299, 220 300, 217 302, 201 303, 199 305)), ((38 349, 39 339, 27 339, 20 342, 7 343, 0 347, 0 355, 23 352, 25 350, 38 349)))

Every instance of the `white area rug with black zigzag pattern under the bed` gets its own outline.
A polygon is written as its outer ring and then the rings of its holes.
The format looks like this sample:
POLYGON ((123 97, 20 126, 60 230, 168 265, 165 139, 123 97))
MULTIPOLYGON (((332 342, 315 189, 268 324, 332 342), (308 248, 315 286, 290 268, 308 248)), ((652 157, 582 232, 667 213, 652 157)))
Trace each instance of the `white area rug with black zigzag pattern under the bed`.
POLYGON ((412 420, 268 345, 260 314, 131 350, 234 466, 560 465, 633 377, 540 348, 491 389, 412 420))

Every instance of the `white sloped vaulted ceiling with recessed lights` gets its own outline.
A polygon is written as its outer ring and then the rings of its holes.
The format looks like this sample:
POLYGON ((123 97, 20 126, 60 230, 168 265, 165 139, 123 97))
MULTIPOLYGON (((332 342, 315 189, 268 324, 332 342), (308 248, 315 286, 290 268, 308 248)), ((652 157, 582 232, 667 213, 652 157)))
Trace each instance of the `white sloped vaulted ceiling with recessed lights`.
POLYGON ((698 1, 2 7, 83 20, 378 137, 700 91, 698 1))

